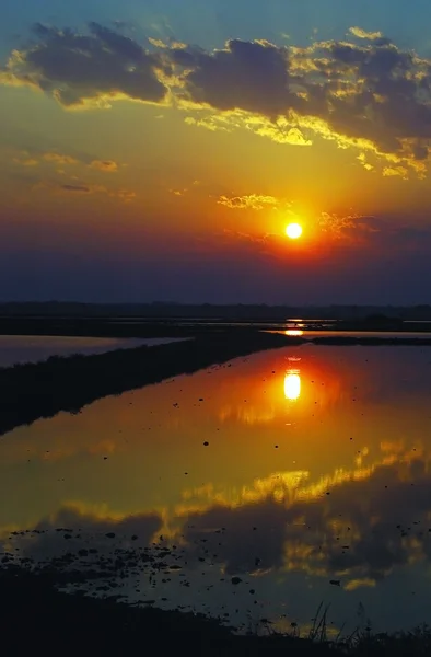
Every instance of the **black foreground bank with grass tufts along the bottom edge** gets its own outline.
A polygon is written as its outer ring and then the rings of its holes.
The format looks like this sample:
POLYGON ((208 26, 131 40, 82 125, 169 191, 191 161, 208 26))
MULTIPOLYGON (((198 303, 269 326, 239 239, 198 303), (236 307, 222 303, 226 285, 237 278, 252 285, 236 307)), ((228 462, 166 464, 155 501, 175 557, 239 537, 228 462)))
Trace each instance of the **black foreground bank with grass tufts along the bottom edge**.
POLYGON ((127 606, 56 590, 49 575, 0 569, 0 633, 4 654, 398 657, 431 654, 427 629, 399 635, 366 631, 330 643, 324 627, 303 638, 268 632, 237 635, 215 619, 127 606))

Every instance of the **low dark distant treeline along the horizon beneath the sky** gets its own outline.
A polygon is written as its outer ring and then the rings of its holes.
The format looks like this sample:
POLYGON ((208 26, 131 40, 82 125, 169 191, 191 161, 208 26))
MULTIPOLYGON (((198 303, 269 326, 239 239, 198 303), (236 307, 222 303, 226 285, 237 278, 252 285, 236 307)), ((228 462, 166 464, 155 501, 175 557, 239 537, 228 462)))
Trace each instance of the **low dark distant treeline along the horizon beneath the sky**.
POLYGON ((80 303, 80 302, 0 302, 0 316, 57 318, 148 318, 283 321, 363 320, 383 315, 389 319, 431 321, 431 306, 267 306, 211 303, 186 304, 154 301, 152 303, 80 303))

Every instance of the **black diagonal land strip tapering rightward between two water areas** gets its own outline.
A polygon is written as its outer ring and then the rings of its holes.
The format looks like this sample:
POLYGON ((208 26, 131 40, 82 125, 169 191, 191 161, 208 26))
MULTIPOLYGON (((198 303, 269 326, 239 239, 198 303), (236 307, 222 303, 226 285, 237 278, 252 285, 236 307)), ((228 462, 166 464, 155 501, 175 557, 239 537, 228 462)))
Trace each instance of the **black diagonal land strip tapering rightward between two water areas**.
POLYGON ((282 335, 222 332, 180 343, 117 349, 91 356, 50 357, 0 369, 0 435, 60 411, 78 413, 109 395, 283 347, 282 335))

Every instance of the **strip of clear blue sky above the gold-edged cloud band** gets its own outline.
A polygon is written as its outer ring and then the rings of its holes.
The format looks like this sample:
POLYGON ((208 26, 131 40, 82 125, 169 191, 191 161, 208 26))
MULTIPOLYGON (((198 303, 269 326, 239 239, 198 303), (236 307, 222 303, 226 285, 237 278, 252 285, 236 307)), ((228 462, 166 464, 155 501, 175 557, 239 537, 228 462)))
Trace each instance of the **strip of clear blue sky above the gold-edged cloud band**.
POLYGON ((123 21, 149 36, 168 36, 171 28, 176 38, 208 47, 229 37, 271 39, 282 33, 306 44, 314 30, 322 39, 342 38, 349 27, 359 25, 429 54, 430 20, 428 0, 14 0, 0 31, 11 44, 18 34, 25 38, 38 21, 73 27, 88 21, 123 21))

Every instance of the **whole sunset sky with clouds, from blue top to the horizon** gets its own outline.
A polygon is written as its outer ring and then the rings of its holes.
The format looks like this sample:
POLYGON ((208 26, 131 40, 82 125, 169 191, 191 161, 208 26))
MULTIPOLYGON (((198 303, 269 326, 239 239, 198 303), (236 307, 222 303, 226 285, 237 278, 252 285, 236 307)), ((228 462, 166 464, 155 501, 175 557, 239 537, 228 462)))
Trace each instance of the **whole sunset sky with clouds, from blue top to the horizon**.
POLYGON ((431 302, 428 0, 3 14, 0 300, 431 302))

